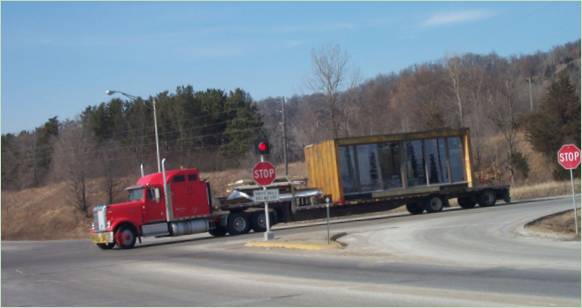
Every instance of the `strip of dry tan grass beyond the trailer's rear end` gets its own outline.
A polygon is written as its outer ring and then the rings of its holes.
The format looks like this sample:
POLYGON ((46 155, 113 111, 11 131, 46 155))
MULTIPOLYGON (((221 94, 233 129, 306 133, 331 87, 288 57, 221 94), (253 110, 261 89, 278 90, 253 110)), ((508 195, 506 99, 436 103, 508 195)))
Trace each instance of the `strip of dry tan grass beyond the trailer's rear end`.
MULTIPOLYGON (((580 180, 574 180, 574 190, 580 193, 580 180)), ((511 187, 511 199, 530 199, 549 196, 561 196, 572 193, 570 181, 552 181, 540 184, 527 184, 522 186, 511 187)))

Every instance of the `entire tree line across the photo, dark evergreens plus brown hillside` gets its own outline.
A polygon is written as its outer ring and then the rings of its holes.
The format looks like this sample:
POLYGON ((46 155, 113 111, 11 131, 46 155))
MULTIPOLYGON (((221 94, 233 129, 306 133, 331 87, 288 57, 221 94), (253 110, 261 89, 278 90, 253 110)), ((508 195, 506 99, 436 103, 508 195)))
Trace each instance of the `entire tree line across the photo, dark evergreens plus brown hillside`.
MULTIPOLYGON (((507 58, 451 56, 363 82, 339 46, 314 50, 312 67, 306 84, 313 94, 286 100, 291 161, 303 160, 303 146, 328 138, 469 127, 481 180, 514 182, 526 180, 531 165, 518 135, 548 162, 559 144, 580 144, 580 41, 507 58)), ((72 120, 53 117, 32 131, 2 134, 2 189, 65 180, 72 201, 87 206, 86 181, 101 178, 111 199, 118 179, 137 175, 140 163, 156 170, 154 100, 169 167, 250 167, 261 136, 273 145, 270 159, 283 160, 281 97, 255 101, 242 89, 187 85, 112 98, 72 120)))

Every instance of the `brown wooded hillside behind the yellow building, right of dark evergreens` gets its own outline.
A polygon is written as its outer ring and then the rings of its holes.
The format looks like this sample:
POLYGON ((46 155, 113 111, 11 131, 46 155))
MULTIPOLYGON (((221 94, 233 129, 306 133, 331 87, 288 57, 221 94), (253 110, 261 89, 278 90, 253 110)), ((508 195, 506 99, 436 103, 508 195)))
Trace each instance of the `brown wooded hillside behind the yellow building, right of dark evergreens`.
MULTIPOLYGON (((557 144, 580 144, 579 40, 532 55, 450 56, 364 82, 350 76, 354 69, 339 46, 312 58, 315 78, 307 84, 319 90, 287 100, 290 157, 299 160, 303 146, 333 137, 468 127, 480 180, 515 184, 528 180, 532 167, 522 136, 544 156, 550 175, 534 181, 562 179, 554 168, 557 144)), ((278 118, 280 104, 259 102, 275 139, 280 130, 269 119, 278 118)))

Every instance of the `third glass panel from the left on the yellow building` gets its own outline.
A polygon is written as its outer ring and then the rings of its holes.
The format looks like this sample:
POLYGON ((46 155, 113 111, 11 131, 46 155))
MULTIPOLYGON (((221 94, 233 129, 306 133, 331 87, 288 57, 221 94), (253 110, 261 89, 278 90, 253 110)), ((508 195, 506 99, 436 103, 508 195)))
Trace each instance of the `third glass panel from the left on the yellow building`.
POLYGON ((378 154, 384 189, 401 188, 400 143, 379 144, 378 154))

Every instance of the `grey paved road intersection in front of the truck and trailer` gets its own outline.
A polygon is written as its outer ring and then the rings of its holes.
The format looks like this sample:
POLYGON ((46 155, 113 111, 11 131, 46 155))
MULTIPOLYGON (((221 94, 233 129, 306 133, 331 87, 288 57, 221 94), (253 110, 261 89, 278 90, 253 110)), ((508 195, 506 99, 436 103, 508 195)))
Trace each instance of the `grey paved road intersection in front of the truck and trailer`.
MULTIPOLYGON (((334 223, 345 249, 245 248, 261 234, 2 242, 5 306, 580 306, 580 243, 519 234, 558 198, 334 223)), ((276 230, 320 238, 325 226, 276 230)))

